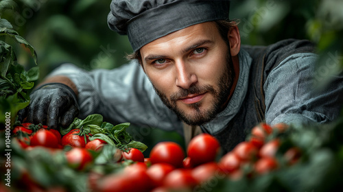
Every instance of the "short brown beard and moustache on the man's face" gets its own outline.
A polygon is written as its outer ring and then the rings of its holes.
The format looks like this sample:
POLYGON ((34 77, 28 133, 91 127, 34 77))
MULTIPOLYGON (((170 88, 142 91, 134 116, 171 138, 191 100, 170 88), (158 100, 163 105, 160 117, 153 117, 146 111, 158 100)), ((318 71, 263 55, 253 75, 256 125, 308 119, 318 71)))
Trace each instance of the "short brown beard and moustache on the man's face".
POLYGON ((155 86, 154 89, 163 101, 163 104, 173 110, 179 119, 189 125, 202 125, 213 120, 217 114, 224 109, 224 104, 226 104, 226 101, 228 101, 228 97, 230 96, 234 76, 233 60, 230 56, 230 51, 228 51, 224 73, 221 74, 217 82, 217 89, 213 88, 211 85, 194 84, 187 89, 180 88, 180 91, 173 93, 169 98, 155 86), (176 105, 176 101, 182 97, 187 97, 189 94, 202 94, 205 92, 213 96, 211 107, 209 109, 202 109, 202 101, 199 101, 197 103, 187 105, 192 109, 192 112, 187 114, 176 105))

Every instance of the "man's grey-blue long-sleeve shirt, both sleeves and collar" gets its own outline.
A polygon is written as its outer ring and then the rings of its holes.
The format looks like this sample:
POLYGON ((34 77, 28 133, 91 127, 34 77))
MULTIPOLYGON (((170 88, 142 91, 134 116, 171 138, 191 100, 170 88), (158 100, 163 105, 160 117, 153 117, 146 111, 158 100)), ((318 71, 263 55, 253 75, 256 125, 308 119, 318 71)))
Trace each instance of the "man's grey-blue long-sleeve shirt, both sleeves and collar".
MULTIPOLYGON (((314 53, 294 53, 270 71, 263 84, 266 123, 326 123, 338 117, 343 103, 339 99, 343 93, 342 77, 327 92, 314 93, 316 60, 314 53)), ((250 118, 255 112, 251 97, 247 97, 253 91, 249 83, 253 64, 249 53, 241 49, 239 79, 232 99, 213 121, 201 125, 202 131, 217 136, 226 150, 244 140, 248 130, 261 120, 250 118)), ((65 75, 75 83, 80 118, 99 113, 110 122, 183 132, 182 122, 164 106, 137 61, 113 70, 93 71, 62 64, 50 75, 65 75)))

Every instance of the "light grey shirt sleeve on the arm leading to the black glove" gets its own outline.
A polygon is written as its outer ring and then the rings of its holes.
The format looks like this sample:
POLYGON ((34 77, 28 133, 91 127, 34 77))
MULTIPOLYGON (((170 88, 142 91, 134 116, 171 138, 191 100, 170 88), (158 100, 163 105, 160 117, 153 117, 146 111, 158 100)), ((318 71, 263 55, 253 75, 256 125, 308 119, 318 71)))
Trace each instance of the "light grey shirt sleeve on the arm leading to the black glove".
POLYGON ((140 127, 182 133, 182 123, 158 97, 143 69, 135 61, 108 70, 85 71, 62 64, 49 76, 69 77, 78 88, 80 118, 101 114, 112 123, 129 122, 140 127))

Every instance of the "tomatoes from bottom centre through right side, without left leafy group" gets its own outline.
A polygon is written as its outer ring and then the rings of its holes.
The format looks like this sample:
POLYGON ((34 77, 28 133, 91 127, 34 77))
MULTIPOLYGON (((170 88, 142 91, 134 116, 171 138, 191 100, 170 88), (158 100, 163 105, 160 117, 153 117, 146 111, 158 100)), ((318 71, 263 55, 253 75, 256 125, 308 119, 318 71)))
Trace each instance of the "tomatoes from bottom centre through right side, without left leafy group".
MULTIPOLYGON (((276 152, 281 141, 270 136, 285 129, 287 125, 284 124, 271 127, 260 123, 252 129, 246 141, 221 157, 220 143, 210 134, 194 137, 187 153, 177 143, 157 143, 150 157, 145 158, 145 163, 140 160, 119 173, 100 177, 96 190, 194 191, 213 178, 239 180, 243 176, 259 176, 278 169, 276 152)), ((283 156, 289 165, 296 163, 299 157, 300 150, 297 148, 288 149, 283 156)))

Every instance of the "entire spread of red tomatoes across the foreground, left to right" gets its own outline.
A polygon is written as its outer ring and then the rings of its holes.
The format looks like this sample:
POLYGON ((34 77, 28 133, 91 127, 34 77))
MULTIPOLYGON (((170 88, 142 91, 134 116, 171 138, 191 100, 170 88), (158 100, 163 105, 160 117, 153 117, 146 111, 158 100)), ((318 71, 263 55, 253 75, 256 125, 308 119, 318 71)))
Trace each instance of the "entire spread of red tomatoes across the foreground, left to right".
MULTIPOLYGON (((40 146, 60 150, 67 164, 75 171, 88 174, 87 186, 93 191, 194 191, 202 189, 213 178, 239 180, 269 173, 280 166, 276 153, 281 146, 275 132, 282 133, 286 125, 271 127, 260 123, 250 135, 227 154, 220 154, 220 143, 210 134, 195 136, 185 151, 178 143, 157 143, 149 157, 136 148, 117 147, 107 162, 115 171, 95 171, 95 159, 109 144, 92 139, 80 129, 73 129, 61 138, 60 132, 45 125, 23 123, 14 128, 17 141, 25 149, 40 146), (69 147, 67 147, 69 146, 69 147), (63 149, 63 150, 62 150, 63 149), (222 155, 222 156, 221 156, 222 155), (118 165, 118 166, 117 166, 118 165)), ((300 158, 300 149, 284 149, 283 160, 293 165, 300 158)), ((106 166, 106 165, 105 165, 106 166)), ((104 168, 105 169, 105 168, 104 168)))

